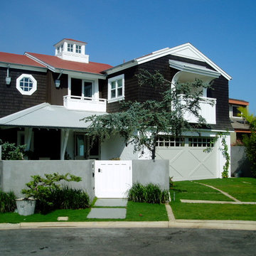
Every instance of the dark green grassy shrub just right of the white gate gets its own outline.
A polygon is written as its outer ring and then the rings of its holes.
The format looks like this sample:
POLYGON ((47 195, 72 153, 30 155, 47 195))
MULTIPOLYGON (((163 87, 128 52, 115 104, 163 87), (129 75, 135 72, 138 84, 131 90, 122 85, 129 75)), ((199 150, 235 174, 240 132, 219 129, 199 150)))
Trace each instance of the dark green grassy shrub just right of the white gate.
POLYGON ((138 203, 166 203, 169 200, 169 191, 153 183, 143 186, 141 183, 134 183, 128 191, 128 200, 138 203))

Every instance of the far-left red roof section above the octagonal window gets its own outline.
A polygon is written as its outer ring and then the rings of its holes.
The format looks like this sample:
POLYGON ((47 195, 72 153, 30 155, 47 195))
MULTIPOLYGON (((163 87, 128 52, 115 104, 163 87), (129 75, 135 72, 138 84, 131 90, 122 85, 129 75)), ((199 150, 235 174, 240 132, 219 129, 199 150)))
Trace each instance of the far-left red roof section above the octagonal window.
POLYGON ((14 53, 3 53, 0 52, 0 62, 4 63, 15 63, 20 65, 31 65, 34 67, 43 67, 46 68, 44 65, 37 63, 35 60, 31 60, 25 55, 19 55, 14 53))

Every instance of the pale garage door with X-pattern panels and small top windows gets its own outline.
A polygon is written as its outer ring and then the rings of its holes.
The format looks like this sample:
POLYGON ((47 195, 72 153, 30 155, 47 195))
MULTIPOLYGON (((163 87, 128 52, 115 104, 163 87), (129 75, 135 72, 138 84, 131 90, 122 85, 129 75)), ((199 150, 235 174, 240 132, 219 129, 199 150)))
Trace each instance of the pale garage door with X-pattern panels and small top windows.
POLYGON ((174 181, 217 178, 217 150, 206 137, 159 137, 156 159, 169 159, 174 181), (210 146, 211 151, 204 151, 210 146))

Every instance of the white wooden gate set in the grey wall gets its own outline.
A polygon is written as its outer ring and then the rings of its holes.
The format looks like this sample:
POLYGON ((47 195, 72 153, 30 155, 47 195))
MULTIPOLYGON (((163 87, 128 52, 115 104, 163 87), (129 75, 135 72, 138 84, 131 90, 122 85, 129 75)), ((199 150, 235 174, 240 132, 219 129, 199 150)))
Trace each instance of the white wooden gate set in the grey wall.
POLYGON ((124 198, 132 186, 132 161, 95 161, 95 196, 124 198))

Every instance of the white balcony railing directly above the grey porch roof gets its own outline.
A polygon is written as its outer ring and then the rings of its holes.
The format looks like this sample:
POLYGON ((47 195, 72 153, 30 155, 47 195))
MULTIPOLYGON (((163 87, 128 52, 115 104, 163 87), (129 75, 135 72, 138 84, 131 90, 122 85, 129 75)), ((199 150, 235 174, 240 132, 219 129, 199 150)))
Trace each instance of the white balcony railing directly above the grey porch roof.
POLYGON ((107 112, 107 100, 99 98, 67 95, 63 97, 63 105, 69 110, 107 112))

